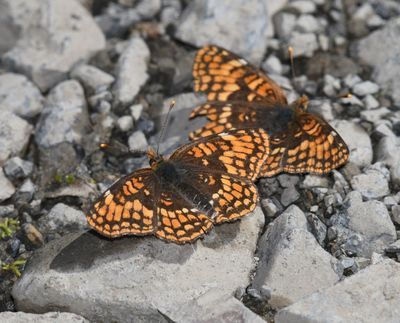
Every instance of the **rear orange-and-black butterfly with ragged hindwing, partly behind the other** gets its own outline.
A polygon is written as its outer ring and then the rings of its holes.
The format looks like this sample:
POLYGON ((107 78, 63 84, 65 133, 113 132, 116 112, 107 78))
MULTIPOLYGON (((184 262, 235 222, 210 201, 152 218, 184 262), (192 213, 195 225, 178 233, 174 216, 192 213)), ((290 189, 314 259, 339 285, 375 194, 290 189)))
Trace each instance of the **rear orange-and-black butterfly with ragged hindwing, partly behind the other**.
POLYGON ((190 134, 206 137, 234 128, 263 128, 270 136, 271 153, 260 177, 289 173, 323 174, 343 165, 349 150, 340 135, 323 119, 306 112, 308 98, 288 105, 282 89, 243 58, 217 46, 200 49, 193 65, 194 89, 208 102, 190 118, 209 122, 190 134))

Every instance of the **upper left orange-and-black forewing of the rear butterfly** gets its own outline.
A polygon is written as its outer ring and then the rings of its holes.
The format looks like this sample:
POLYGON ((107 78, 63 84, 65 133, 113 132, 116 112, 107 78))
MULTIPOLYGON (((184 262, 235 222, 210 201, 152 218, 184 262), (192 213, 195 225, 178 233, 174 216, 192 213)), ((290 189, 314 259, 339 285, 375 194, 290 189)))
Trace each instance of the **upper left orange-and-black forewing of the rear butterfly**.
POLYGON ((287 104, 282 89, 258 68, 217 46, 200 49, 193 64, 194 89, 209 101, 287 104))

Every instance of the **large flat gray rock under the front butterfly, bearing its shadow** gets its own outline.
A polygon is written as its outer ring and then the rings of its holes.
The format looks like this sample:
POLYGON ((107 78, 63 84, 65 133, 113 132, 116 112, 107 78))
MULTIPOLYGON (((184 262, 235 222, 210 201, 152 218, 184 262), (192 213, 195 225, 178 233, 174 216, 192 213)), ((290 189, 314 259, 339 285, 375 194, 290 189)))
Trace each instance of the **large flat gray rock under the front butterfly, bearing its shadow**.
POLYGON ((165 322, 208 291, 224 300, 248 286, 263 224, 257 208, 241 221, 216 226, 192 245, 149 236, 108 240, 92 232, 68 235, 35 255, 12 294, 23 311, 68 306, 90 321, 165 322), (101 292, 105 288, 108 292, 101 292))

